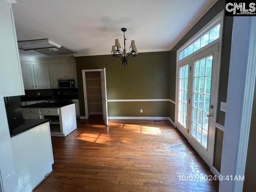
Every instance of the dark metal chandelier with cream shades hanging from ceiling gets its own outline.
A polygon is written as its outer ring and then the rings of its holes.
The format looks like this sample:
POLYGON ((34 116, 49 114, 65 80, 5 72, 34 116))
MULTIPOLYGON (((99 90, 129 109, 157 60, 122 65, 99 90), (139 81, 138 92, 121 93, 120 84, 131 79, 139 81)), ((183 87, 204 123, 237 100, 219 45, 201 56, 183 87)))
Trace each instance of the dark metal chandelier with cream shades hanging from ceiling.
MULTIPOLYGON (((126 32, 126 28, 122 28, 121 29, 122 32, 126 32)), ((126 37, 124 35, 124 49, 123 51, 120 50, 121 46, 120 46, 120 43, 119 43, 119 39, 116 39, 115 40, 115 45, 112 46, 112 50, 111 50, 111 53, 112 53, 112 57, 118 57, 122 60, 122 65, 128 65, 128 59, 131 58, 131 57, 135 57, 137 56, 138 54, 138 51, 137 51, 137 48, 135 46, 135 41, 132 40, 131 41, 131 46, 130 46, 130 52, 126 52, 126 48, 125 48, 125 41, 128 40, 128 37, 126 37)))

